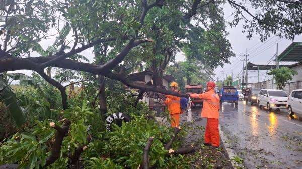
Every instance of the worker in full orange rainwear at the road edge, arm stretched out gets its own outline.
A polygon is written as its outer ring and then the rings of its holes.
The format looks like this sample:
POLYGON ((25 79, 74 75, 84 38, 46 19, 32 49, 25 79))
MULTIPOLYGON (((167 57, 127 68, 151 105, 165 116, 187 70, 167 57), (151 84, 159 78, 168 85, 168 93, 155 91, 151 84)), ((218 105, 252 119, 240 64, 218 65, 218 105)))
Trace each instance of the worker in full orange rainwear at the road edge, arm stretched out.
POLYGON ((218 148, 220 146, 218 129, 220 99, 219 96, 215 93, 216 84, 214 82, 207 82, 206 87, 207 92, 202 94, 190 94, 190 97, 203 100, 201 117, 207 118, 204 134, 204 144, 218 148))

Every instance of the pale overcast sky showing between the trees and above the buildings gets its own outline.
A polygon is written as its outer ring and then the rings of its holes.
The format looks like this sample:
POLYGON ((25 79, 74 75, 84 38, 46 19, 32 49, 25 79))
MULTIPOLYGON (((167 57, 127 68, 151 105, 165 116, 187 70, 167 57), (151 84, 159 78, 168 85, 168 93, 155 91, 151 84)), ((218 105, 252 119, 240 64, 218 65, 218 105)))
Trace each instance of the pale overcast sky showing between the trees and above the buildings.
MULTIPOLYGON (((226 21, 231 21, 233 19, 233 16, 231 15, 234 12, 234 9, 230 7, 229 4, 225 4, 223 6, 224 11, 224 18, 226 21)), ((60 28, 62 28, 64 25, 64 21, 61 20, 60 22, 60 28)), ((225 76, 231 75, 231 71, 233 68, 233 80, 236 80, 238 78, 241 78, 241 71, 243 67, 243 61, 240 61, 241 57, 240 55, 247 54, 249 55, 248 59, 254 64, 266 64, 271 57, 276 53, 276 43, 278 43, 278 54, 284 51, 292 42, 302 42, 302 36, 296 36, 294 41, 286 40, 286 39, 279 39, 278 37, 270 37, 267 41, 261 42, 258 35, 254 35, 250 40, 246 38, 246 34, 242 33, 242 24, 239 23, 239 25, 235 28, 230 28, 227 26, 227 31, 229 32, 229 35, 227 36, 227 39, 230 41, 233 52, 236 54, 236 57, 230 58, 231 64, 225 64, 223 67, 218 67, 215 69, 216 77, 214 79, 216 80, 217 77, 219 80, 223 79, 223 72, 225 72, 225 76)), ((56 30, 51 29, 50 34, 55 34, 56 30)), ((71 37, 70 37, 71 38, 71 37)), ((54 38, 43 40, 40 44, 44 49, 47 49, 48 46, 50 46, 54 42, 54 38)), ((72 44, 71 44, 72 46, 72 44)), ((81 53, 82 55, 86 56, 88 59, 93 58, 92 49, 85 50, 81 53)), ((37 55, 38 54, 33 54, 37 55)), ((184 55, 179 53, 176 56, 176 61, 183 61, 185 59, 184 55)), ((271 62, 270 64, 275 64, 274 62, 271 62)), ((286 64, 286 63, 280 63, 280 64, 286 64)), ((15 71, 14 71, 15 72, 15 71)), ((31 74, 31 71, 27 70, 20 70, 17 72, 22 72, 27 75, 31 74)), ((264 78, 267 80, 269 78, 268 76, 265 76, 266 71, 260 71, 260 81, 263 81, 264 78)), ((257 71, 250 70, 249 71, 249 82, 257 82, 257 71)))

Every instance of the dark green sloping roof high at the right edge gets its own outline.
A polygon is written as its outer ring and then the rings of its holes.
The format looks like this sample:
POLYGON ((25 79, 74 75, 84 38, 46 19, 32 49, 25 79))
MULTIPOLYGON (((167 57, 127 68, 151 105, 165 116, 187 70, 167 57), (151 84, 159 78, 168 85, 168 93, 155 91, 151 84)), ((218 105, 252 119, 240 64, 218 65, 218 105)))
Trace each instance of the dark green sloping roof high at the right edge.
MULTIPOLYGON (((276 59, 274 60, 276 61, 276 59)), ((281 62, 302 62, 302 42, 291 43, 279 56, 281 62)))

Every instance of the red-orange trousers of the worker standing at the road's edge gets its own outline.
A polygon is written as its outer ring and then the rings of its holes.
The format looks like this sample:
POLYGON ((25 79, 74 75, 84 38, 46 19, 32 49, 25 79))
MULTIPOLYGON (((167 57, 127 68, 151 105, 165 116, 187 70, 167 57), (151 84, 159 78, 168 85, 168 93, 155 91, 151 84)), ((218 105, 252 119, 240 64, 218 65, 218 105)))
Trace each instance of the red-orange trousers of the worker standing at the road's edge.
POLYGON ((219 120, 217 118, 207 118, 204 134, 204 143, 211 144, 215 147, 218 147, 220 145, 218 125, 219 120))

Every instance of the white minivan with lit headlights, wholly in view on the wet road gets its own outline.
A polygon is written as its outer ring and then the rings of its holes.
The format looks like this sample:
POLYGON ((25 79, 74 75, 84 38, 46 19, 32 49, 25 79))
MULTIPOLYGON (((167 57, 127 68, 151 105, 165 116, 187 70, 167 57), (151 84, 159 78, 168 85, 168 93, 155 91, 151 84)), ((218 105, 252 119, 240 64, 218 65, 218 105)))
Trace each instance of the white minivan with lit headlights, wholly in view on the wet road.
POLYGON ((283 90, 262 89, 258 95, 258 107, 266 106, 272 109, 286 109, 288 95, 283 90))

